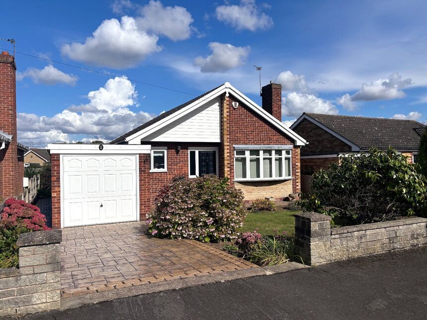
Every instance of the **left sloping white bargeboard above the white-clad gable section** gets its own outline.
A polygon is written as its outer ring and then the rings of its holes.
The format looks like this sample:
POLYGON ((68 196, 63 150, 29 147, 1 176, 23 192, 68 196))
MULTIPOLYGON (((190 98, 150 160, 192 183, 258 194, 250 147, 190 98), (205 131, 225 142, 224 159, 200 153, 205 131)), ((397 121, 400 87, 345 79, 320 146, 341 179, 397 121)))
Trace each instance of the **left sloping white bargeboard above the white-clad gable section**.
MULTIPOLYGON (((227 84, 227 83, 226 83, 227 84)), ((131 136, 125 138, 124 140, 127 141, 131 145, 136 145, 141 143, 141 139, 154 133, 155 131, 163 128, 164 126, 168 125, 169 123, 181 118, 185 114, 191 112, 192 110, 196 109, 197 107, 200 107, 201 105, 205 104, 209 100, 213 100, 218 95, 222 94, 226 88, 226 84, 223 84, 218 89, 212 91, 211 93, 208 93, 207 95, 203 96, 197 101, 194 101, 192 104, 189 104, 186 107, 183 107, 181 110, 178 110, 177 112, 172 113, 171 115, 167 116, 166 118, 157 121, 156 123, 153 123, 152 125, 148 126, 147 128, 142 129, 139 132, 136 132, 132 134, 131 136)))

